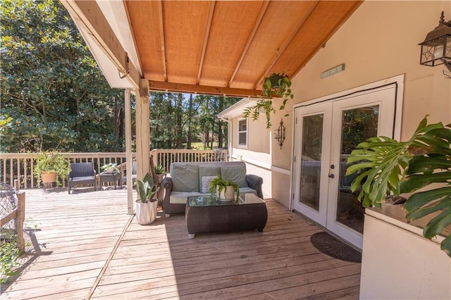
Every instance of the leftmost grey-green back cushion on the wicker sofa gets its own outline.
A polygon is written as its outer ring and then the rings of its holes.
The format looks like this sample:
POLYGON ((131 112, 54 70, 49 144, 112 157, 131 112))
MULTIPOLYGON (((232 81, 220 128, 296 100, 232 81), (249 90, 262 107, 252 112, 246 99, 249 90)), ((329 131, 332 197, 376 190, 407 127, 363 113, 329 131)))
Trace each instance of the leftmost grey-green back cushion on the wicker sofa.
POLYGON ((175 192, 199 192, 199 165, 171 163, 172 190, 175 192))

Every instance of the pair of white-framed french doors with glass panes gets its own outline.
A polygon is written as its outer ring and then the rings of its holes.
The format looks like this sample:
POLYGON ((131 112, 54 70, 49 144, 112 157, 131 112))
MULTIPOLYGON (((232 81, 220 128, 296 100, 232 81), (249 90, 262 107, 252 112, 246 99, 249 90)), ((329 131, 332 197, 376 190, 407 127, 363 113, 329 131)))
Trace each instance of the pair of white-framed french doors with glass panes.
POLYGON ((295 110, 292 208, 359 248, 364 208, 347 158, 369 137, 393 137, 395 96, 388 85, 295 110))

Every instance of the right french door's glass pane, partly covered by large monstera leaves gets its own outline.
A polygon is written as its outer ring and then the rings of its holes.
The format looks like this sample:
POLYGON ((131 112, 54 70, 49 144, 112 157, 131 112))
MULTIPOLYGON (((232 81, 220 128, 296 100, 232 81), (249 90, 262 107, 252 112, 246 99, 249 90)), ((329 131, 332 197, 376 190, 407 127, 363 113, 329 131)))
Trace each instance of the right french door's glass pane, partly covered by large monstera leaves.
POLYGON ((357 200, 357 196, 351 193, 351 182, 357 174, 345 175, 347 158, 360 142, 377 135, 378 115, 379 106, 355 108, 342 113, 340 185, 336 220, 361 233, 364 229, 364 208, 357 200))

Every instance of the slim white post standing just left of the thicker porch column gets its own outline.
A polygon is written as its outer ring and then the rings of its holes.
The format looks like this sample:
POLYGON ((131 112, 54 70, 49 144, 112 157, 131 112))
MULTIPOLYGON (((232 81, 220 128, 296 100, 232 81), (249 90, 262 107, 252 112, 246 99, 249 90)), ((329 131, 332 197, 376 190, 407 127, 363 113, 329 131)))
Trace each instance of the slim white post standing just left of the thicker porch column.
POLYGON ((128 214, 133 214, 133 185, 132 185, 132 113, 130 89, 125 89, 125 161, 127 161, 127 207, 128 214))

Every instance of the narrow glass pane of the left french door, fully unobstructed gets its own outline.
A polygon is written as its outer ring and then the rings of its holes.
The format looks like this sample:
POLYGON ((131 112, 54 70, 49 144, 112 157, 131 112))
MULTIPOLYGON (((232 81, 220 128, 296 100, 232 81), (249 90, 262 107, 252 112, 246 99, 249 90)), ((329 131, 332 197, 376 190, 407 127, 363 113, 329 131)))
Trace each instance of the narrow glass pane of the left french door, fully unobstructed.
POLYGON ((299 201, 319 211, 323 114, 302 118, 302 157, 299 201))

